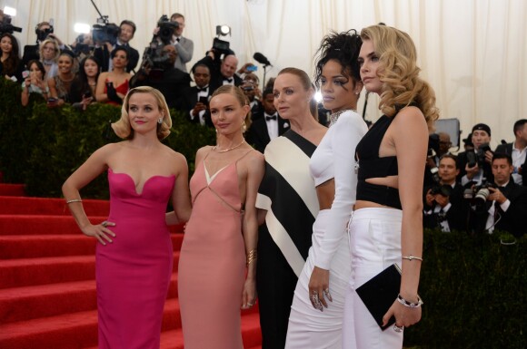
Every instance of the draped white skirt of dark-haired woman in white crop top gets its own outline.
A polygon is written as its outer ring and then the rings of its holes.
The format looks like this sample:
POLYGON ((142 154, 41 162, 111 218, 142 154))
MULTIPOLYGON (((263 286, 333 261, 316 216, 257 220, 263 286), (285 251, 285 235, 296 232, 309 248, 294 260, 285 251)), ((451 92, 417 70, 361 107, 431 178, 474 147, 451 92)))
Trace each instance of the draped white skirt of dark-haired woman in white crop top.
POLYGON ((343 229, 343 243, 333 256, 330 267, 329 288, 333 302, 328 301, 328 307, 323 308, 321 312, 313 307, 309 299, 308 284, 313 273, 313 259, 320 253, 324 228, 328 226, 327 221, 330 218, 329 212, 329 209, 320 211, 313 224, 313 246, 309 249, 309 257, 294 290, 285 342, 285 348, 288 349, 341 349, 342 347, 344 298, 351 273, 350 251, 345 229, 343 229))

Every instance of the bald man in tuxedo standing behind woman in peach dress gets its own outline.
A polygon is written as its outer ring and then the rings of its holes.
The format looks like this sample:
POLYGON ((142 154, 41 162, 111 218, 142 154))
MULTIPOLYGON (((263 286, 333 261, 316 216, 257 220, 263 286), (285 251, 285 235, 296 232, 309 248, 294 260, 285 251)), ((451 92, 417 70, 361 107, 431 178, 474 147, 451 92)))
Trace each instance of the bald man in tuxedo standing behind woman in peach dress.
POLYGON ((234 52, 231 50, 226 53, 218 53, 212 48, 202 60, 198 61, 198 63, 203 63, 209 67, 209 71, 211 72, 210 87, 213 92, 220 86, 240 86, 243 82, 242 78, 236 75, 238 58, 236 58, 234 52), (223 58, 220 59, 222 54, 223 58))

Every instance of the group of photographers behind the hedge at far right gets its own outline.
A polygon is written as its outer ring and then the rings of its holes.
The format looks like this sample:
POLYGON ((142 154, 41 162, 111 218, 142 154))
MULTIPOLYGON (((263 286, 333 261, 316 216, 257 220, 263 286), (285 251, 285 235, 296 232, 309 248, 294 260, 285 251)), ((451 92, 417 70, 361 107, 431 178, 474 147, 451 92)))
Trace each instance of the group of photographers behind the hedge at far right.
MULTIPOLYGON (((430 176, 423 191, 423 224, 443 232, 472 234, 501 230, 522 237, 527 212, 527 119, 513 126, 514 141, 489 146, 491 128, 478 123, 465 141, 465 151, 439 150, 427 160, 430 176)), ((446 133, 441 142, 450 144, 446 133)))

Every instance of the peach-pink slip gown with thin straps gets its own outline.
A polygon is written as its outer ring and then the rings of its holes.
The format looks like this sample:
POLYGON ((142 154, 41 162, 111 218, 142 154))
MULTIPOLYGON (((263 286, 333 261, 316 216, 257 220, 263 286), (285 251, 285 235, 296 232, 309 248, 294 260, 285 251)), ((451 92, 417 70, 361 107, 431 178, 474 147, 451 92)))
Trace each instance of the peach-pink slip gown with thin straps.
POLYGON ((190 180, 194 204, 177 277, 185 349, 244 347, 245 248, 235 165, 220 170, 207 185, 202 161, 190 180))

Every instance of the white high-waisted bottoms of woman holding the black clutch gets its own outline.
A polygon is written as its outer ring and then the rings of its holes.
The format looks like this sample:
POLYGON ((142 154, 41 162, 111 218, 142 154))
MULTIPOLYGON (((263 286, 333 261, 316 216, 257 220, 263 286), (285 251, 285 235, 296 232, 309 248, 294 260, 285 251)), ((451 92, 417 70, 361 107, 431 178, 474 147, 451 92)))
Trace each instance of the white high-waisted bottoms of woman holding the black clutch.
MULTIPOLYGON (((343 316, 343 348, 394 349, 403 347, 403 333, 384 331, 373 320, 355 288, 393 263, 401 266, 403 211, 395 208, 361 208, 350 219, 352 275, 343 316)), ((395 299, 393 299, 395 300, 395 299)))

